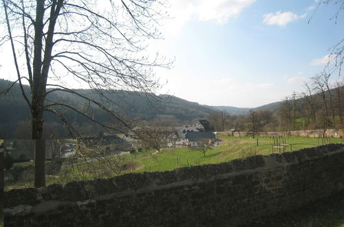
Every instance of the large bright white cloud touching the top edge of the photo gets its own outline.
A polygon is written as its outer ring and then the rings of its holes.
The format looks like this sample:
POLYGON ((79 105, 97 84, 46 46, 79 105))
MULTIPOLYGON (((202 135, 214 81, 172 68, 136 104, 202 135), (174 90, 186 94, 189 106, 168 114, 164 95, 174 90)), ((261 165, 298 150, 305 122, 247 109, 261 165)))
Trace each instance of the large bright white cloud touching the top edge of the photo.
POLYGON ((162 32, 167 35, 177 34, 182 26, 191 19, 198 21, 216 21, 226 23, 244 8, 248 8, 257 0, 174 0, 167 9, 172 19, 167 19, 162 32))

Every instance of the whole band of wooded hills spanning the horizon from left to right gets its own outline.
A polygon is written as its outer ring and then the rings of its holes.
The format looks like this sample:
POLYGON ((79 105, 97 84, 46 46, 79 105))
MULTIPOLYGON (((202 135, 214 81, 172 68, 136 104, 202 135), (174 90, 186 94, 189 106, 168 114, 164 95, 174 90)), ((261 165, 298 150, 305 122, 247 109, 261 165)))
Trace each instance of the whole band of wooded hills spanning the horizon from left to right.
MULTIPOLYGON (((8 80, 0 79, 0 91, 10 84, 8 80)), ((24 85, 24 90, 30 94, 28 86, 24 85)), ((292 94, 280 102, 272 102, 257 108, 212 107, 175 96, 147 98, 147 94, 129 91, 116 91, 111 94, 111 102, 108 102, 98 94, 92 93, 90 89, 76 91, 138 122, 161 120, 172 122, 173 125, 182 125, 199 118, 208 118, 216 131, 233 128, 252 131, 252 111, 254 111, 257 120, 255 127, 258 131, 338 128, 343 125, 341 118, 344 111, 344 87, 341 84, 328 90, 324 85, 321 89, 319 85, 313 83, 309 85, 309 89, 305 89, 300 94, 292 94)), ((104 111, 67 92, 54 92, 49 94, 48 99, 78 107, 102 122, 110 121, 104 111)), ((83 133, 94 135, 101 131, 100 127, 80 114, 69 109, 62 110, 83 133)), ((19 85, 15 84, 5 96, 0 96, 0 138, 30 138, 29 117, 29 109, 21 96, 19 85)), ((50 113, 45 114, 45 127, 46 137, 52 136, 52 133, 55 133, 55 136, 67 136, 61 121, 50 113)))

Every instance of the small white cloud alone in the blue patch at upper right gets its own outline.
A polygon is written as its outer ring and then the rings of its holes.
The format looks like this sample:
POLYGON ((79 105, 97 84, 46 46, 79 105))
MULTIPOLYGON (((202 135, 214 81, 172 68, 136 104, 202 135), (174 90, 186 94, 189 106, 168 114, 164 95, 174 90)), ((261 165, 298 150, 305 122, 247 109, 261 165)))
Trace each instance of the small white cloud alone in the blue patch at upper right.
POLYGON ((298 14, 294 14, 294 12, 275 12, 275 13, 268 13, 268 14, 264 14, 263 17, 263 22, 266 25, 279 25, 279 26, 285 26, 287 25, 287 23, 293 22, 293 21, 297 21, 299 19, 304 18, 305 16, 307 16, 307 14, 302 14, 302 15, 298 15, 298 14))

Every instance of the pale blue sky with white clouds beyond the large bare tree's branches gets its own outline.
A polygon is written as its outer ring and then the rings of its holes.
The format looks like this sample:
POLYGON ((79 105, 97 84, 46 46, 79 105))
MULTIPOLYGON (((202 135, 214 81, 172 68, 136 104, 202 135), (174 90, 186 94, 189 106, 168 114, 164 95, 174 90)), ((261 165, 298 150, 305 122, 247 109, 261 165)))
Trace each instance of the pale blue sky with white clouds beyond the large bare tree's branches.
MULTIPOLYGON (((149 52, 175 59, 171 69, 155 69, 159 92, 202 105, 258 107, 303 91, 303 81, 324 69, 330 47, 344 38, 344 10, 334 19, 338 5, 318 5, 170 0, 170 17, 160 21, 164 39, 149 45, 149 52)), ((1 78, 13 80, 9 55, 2 46, 1 78)))

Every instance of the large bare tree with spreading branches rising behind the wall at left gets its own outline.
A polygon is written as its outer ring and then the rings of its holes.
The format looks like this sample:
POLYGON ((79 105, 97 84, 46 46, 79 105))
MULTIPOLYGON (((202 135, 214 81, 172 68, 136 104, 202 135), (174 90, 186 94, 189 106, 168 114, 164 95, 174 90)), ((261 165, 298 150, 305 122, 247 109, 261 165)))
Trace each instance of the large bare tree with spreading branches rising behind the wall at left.
MULTIPOLYGON (((113 109, 110 94, 118 89, 141 91, 147 96, 159 87, 152 67, 168 67, 164 58, 147 54, 147 39, 159 39, 156 25, 164 17, 164 0, 2 0, 1 43, 10 43, 21 93, 31 114, 35 140, 34 186, 45 185, 43 114, 56 114, 69 133, 82 137, 62 109, 70 109, 101 127, 131 127, 113 109), (72 89, 76 81, 92 88, 102 102, 72 89), (26 94, 23 83, 30 86, 26 94), (71 85, 72 84, 72 85, 71 85), (49 89, 48 89, 49 88, 49 89), (59 100, 53 92, 66 92, 107 113, 104 124, 89 113, 59 100)), ((6 93, 6 92, 3 92, 6 93)), ((115 103, 116 105, 116 103, 115 103)))

